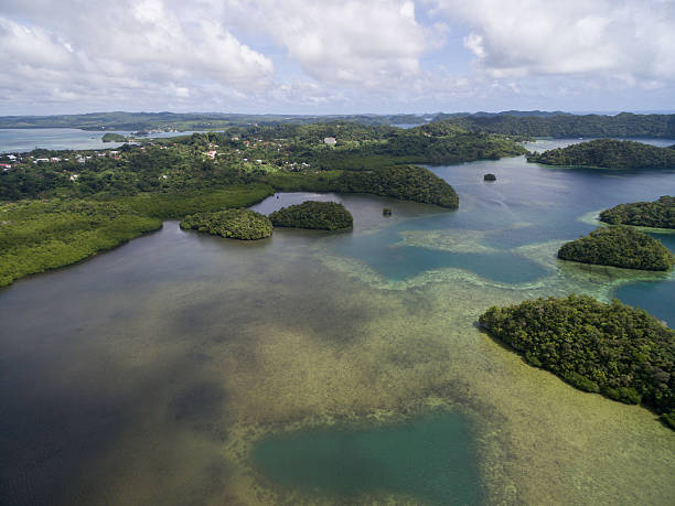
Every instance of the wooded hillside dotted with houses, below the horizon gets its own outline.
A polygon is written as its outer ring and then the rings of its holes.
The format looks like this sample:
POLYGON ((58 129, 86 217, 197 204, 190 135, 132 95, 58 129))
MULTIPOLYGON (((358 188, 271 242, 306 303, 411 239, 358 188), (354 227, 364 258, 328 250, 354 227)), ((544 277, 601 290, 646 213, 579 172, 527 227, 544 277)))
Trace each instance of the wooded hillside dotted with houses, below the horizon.
POLYGON ((451 163, 525 152, 513 139, 467 133, 448 125, 403 130, 346 122, 233 127, 221 133, 154 139, 142 147, 125 144, 116 151, 35 150, 24 154, 25 163, 0 173, 0 200, 193 191, 272 183, 277 174, 281 185, 290 182, 297 187, 298 181, 306 181, 318 190, 331 190, 320 183, 334 177, 338 170, 451 163), (325 137, 335 137, 338 143, 326 146, 325 137), (58 161, 32 163, 53 158, 58 161))

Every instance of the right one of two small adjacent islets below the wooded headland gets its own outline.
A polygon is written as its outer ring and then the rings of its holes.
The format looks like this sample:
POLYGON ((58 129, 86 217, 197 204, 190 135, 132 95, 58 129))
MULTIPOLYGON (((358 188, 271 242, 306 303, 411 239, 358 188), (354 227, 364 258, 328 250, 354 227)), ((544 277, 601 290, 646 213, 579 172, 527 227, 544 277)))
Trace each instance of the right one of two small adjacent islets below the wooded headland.
POLYGON ((352 214, 336 202, 307 201, 302 204, 281 207, 269 215, 275 227, 315 228, 338 230, 354 223, 352 214))

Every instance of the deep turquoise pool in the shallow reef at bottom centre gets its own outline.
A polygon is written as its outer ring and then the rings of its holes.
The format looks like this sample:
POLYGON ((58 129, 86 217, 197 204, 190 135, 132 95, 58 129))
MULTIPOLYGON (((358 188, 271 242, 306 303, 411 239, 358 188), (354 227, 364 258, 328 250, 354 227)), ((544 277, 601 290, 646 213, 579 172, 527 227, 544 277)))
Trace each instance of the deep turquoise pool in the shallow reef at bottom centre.
POLYGON ((375 500, 403 493, 429 504, 474 505, 481 484, 471 441, 467 420, 446 413, 381 429, 276 435, 255 448, 253 460, 282 486, 312 494, 375 500))

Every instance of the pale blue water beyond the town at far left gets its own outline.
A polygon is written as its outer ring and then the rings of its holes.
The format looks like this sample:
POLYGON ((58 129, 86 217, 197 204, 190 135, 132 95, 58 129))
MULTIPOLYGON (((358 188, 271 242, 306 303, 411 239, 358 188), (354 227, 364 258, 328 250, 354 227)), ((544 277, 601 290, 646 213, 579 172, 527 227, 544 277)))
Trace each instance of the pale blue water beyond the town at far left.
MULTIPOLYGON (((36 148, 44 149, 110 149, 120 142, 104 142, 104 131, 78 130, 76 128, 23 128, 0 129, 0 153, 22 153, 36 148)), ((114 133, 128 136, 130 131, 116 130, 114 133)), ((161 132, 150 137, 175 137, 193 132, 161 132)))

